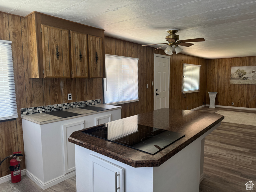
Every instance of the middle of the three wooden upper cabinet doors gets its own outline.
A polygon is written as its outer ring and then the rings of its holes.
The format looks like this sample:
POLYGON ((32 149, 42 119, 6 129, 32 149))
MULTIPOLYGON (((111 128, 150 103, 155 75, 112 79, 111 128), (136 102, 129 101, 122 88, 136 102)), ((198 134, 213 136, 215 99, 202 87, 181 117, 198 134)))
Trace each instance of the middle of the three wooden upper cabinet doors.
POLYGON ((70 31, 72 78, 88 78, 87 35, 70 31))

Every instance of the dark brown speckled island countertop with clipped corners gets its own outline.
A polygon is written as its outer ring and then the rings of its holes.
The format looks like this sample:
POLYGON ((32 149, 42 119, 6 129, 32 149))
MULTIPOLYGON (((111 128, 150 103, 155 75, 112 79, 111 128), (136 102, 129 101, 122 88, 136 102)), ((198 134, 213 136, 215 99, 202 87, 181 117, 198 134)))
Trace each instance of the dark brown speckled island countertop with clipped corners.
POLYGON ((137 124, 186 134, 185 137, 164 148, 162 151, 159 151, 155 155, 143 153, 130 147, 87 135, 81 131, 73 132, 68 141, 132 167, 157 167, 195 141, 223 119, 223 115, 216 113, 169 108, 162 108, 125 118, 126 121, 132 121, 137 124))

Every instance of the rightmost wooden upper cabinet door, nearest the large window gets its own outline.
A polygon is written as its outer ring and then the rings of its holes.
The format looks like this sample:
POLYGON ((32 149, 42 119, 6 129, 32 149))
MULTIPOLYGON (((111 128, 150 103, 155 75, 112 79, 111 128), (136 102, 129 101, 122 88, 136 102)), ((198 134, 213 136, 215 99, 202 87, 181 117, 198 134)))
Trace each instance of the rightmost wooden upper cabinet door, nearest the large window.
POLYGON ((88 35, 90 78, 103 78, 102 38, 88 35))

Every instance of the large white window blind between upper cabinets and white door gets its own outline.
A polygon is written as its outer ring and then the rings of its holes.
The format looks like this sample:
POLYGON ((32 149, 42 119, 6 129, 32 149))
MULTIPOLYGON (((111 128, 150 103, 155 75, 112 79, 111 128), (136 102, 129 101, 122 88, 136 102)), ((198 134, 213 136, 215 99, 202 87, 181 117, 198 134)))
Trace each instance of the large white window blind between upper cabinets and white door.
POLYGON ((104 104, 138 101, 138 59, 105 55, 104 104))

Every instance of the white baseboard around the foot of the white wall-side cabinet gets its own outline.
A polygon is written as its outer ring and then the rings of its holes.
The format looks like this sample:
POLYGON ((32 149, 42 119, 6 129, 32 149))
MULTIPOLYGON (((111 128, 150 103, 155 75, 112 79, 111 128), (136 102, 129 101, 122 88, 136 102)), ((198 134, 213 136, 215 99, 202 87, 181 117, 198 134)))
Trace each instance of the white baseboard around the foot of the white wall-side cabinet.
POLYGON ((51 186, 54 186, 70 177, 73 177, 76 175, 76 170, 67 173, 65 175, 61 175, 59 177, 56 177, 48 182, 43 183, 41 180, 39 180, 37 177, 35 177, 32 173, 30 173, 27 169, 26 169, 26 175, 28 176, 28 178, 30 178, 32 181, 34 181, 39 187, 41 187, 42 189, 47 189, 51 186))

